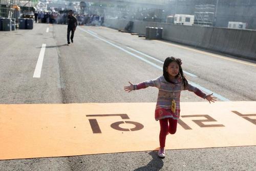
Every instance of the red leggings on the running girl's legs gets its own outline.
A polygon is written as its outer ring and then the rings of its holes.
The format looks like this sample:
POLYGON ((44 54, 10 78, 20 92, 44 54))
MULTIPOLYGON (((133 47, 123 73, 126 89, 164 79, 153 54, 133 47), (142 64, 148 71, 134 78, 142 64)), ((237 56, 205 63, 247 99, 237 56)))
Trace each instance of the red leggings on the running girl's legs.
POLYGON ((165 146, 165 139, 166 135, 169 132, 170 134, 175 134, 177 130, 177 122, 178 120, 173 119, 173 118, 164 118, 160 119, 160 134, 159 134, 159 142, 160 142, 160 147, 164 148, 165 146), (169 122, 169 126, 168 126, 169 122))

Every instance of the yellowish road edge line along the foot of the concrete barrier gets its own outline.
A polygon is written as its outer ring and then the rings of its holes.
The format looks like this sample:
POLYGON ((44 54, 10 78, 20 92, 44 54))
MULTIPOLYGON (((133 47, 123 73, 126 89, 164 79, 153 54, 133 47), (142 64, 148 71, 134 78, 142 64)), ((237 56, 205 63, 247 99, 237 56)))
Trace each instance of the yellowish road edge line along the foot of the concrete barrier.
POLYGON ((164 43, 164 44, 168 44, 168 45, 171 45, 171 46, 175 46, 175 47, 180 47, 180 48, 183 48, 185 50, 194 51, 194 52, 198 52, 198 53, 201 53, 201 54, 209 55, 209 56, 212 56, 212 57, 217 57, 217 58, 221 58, 221 59, 225 59, 225 60, 229 60, 229 61, 233 61, 233 62, 238 62, 238 63, 245 64, 245 65, 256 66, 256 64, 253 64, 253 63, 244 62, 244 61, 240 61, 240 60, 236 60, 236 59, 231 59, 231 58, 228 58, 228 57, 223 57, 223 56, 220 56, 220 55, 216 55, 216 54, 212 54, 212 53, 208 53, 208 52, 203 52, 203 51, 200 51, 200 50, 195 50, 193 48, 184 47, 182 45, 167 43, 167 42, 160 41, 160 40, 155 40, 155 41, 161 42, 161 43, 164 43))

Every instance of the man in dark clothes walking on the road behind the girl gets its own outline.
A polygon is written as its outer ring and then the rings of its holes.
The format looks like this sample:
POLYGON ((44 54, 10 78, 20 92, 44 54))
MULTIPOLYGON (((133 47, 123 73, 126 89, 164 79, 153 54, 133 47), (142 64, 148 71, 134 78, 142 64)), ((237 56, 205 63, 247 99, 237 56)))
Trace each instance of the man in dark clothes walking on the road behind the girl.
POLYGON ((67 34, 68 45, 70 45, 70 39, 71 39, 71 42, 73 43, 76 26, 77 26, 77 19, 73 15, 73 11, 70 10, 68 15, 68 34, 67 34), (71 37, 70 37, 70 31, 71 31, 71 37))

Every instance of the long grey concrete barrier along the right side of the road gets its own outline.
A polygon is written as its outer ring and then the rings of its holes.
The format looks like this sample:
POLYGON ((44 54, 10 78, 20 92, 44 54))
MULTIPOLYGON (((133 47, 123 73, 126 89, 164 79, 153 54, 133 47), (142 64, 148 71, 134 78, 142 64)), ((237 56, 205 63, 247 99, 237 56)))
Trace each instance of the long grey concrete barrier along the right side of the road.
MULTIPOLYGON (((105 19, 105 26, 123 29, 129 20, 105 19)), ((146 27, 163 28, 162 38, 206 50, 256 60, 256 31, 134 21, 132 32, 145 35, 146 27)))

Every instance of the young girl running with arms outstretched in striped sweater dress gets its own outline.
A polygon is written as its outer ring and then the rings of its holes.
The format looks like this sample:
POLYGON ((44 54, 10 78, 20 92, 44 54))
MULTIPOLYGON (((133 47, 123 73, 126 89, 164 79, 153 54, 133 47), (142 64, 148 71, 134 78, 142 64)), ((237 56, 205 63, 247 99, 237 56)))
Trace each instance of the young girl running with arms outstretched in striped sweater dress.
POLYGON ((163 64, 163 76, 139 84, 132 84, 129 82, 130 86, 124 87, 124 90, 128 92, 149 86, 157 87, 159 89, 155 110, 155 119, 159 120, 160 123, 159 157, 165 157, 164 146, 166 135, 168 133, 176 133, 177 121, 180 117, 180 92, 182 90, 193 91, 198 96, 209 101, 209 103, 215 102, 217 99, 216 97, 211 96, 212 94, 207 95, 197 87, 188 84, 183 75, 181 64, 181 59, 167 57, 163 64))

